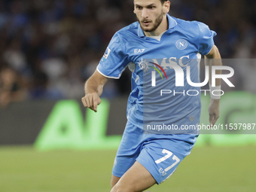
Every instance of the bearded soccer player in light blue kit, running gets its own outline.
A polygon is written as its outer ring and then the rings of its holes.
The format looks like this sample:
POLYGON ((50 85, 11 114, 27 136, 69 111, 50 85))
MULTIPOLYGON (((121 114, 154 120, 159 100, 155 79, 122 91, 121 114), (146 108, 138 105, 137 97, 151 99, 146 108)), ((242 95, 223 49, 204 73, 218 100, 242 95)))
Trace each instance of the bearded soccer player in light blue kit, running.
MULTIPOLYGON (((197 127, 200 120, 200 87, 187 82, 187 73, 190 81, 200 83, 201 55, 206 56, 206 66, 221 66, 213 41, 216 33, 204 23, 170 17, 169 8, 167 0, 134 0, 138 22, 114 34, 84 87, 84 106, 97 111, 108 78, 120 78, 127 66, 133 72, 111 192, 143 191, 175 172, 198 136, 197 130, 182 126, 197 127), (170 130, 161 132, 167 126, 170 130)), ((216 87, 220 85, 217 79, 216 87)), ((220 98, 211 97, 209 121, 213 125, 219 116, 220 98)))

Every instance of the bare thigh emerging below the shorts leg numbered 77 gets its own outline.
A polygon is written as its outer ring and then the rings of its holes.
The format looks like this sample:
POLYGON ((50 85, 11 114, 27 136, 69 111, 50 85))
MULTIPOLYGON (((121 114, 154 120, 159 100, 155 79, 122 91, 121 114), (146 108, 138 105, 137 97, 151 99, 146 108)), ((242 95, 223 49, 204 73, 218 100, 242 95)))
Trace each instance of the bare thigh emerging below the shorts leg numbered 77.
POLYGON ((111 192, 139 192, 148 189, 154 184, 156 184, 156 181, 151 173, 136 161, 114 185, 111 192))

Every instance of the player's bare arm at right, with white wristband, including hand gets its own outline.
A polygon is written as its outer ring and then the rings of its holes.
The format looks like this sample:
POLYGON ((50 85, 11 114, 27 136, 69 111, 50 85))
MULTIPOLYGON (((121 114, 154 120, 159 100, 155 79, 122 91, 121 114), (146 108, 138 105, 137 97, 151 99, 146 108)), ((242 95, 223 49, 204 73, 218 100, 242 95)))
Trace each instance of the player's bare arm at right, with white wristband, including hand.
MULTIPOLYGON (((218 47, 213 45, 212 50, 205 56, 205 64, 209 66, 209 85, 212 85, 212 66, 222 66, 221 54, 218 47)), ((221 70, 216 70, 216 75, 221 75, 221 70)), ((216 87, 221 86, 221 79, 216 79, 216 87)), ((212 99, 209 104, 209 122, 214 125, 220 116, 220 99, 212 99)))

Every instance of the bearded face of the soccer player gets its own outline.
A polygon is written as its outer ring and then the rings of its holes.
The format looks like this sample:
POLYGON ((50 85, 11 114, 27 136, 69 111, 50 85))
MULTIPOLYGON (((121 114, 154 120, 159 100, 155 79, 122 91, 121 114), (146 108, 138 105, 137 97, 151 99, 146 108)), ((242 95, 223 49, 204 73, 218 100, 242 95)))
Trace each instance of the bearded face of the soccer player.
POLYGON ((134 0, 134 13, 136 14, 142 30, 154 32, 163 20, 163 8, 160 0, 134 0))

